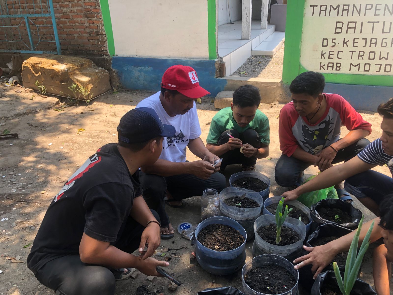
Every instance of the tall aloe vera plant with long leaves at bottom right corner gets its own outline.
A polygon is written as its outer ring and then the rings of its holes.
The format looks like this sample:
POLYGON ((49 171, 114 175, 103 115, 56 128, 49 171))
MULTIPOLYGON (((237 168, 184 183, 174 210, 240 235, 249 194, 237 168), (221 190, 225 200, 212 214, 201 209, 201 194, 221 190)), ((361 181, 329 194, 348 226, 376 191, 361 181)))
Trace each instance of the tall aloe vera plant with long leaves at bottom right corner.
POLYGON ((370 236, 371 231, 374 227, 374 222, 371 223, 370 228, 367 230, 362 245, 360 245, 359 252, 357 251, 362 224, 363 216, 362 219, 360 219, 358 229, 356 230, 356 234, 353 237, 351 247, 349 247, 347 261, 345 262, 344 280, 341 277, 340 269, 338 268, 337 262, 333 262, 334 275, 336 276, 338 287, 340 288, 343 295, 349 295, 351 293, 356 281, 356 276, 359 273, 360 265, 362 264, 364 254, 366 253, 370 245, 370 236))

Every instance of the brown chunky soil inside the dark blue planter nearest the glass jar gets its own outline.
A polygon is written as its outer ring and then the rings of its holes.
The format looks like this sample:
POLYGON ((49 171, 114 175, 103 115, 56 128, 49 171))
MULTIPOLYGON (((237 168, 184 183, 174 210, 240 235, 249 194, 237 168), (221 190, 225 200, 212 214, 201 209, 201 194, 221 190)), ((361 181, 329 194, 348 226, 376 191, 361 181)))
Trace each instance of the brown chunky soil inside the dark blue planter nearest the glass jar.
POLYGON ((239 230, 223 224, 209 224, 198 233, 198 241, 214 251, 230 251, 244 243, 239 230))

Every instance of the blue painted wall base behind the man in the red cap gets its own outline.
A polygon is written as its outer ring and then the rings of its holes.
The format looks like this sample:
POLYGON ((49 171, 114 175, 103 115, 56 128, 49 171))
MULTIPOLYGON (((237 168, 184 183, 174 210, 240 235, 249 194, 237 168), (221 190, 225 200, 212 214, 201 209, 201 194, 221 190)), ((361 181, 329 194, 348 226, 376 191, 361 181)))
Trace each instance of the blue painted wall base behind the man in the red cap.
POLYGON ((199 84, 216 96, 226 85, 225 79, 216 78, 215 60, 160 59, 145 57, 112 57, 112 69, 126 89, 158 91, 163 73, 173 65, 191 66, 198 74, 199 84))

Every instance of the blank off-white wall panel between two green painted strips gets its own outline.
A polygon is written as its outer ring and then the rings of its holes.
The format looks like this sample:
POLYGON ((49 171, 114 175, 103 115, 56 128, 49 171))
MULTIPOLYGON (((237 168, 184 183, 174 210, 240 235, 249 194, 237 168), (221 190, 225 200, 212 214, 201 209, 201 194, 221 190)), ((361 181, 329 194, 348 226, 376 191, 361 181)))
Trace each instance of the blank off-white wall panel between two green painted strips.
POLYGON ((208 1, 108 2, 116 55, 209 58, 208 1))

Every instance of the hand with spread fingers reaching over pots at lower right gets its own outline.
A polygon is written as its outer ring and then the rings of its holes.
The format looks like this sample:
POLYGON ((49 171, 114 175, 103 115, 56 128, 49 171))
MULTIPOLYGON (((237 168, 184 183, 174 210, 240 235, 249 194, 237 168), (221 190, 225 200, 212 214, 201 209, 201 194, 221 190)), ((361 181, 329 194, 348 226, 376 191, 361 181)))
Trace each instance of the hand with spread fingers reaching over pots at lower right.
POLYGON ((303 249, 310 253, 294 260, 294 264, 296 264, 295 269, 312 264, 311 271, 312 273, 315 273, 314 280, 323 271, 323 269, 332 262, 334 256, 338 254, 332 250, 329 243, 317 247, 303 246, 303 249))

